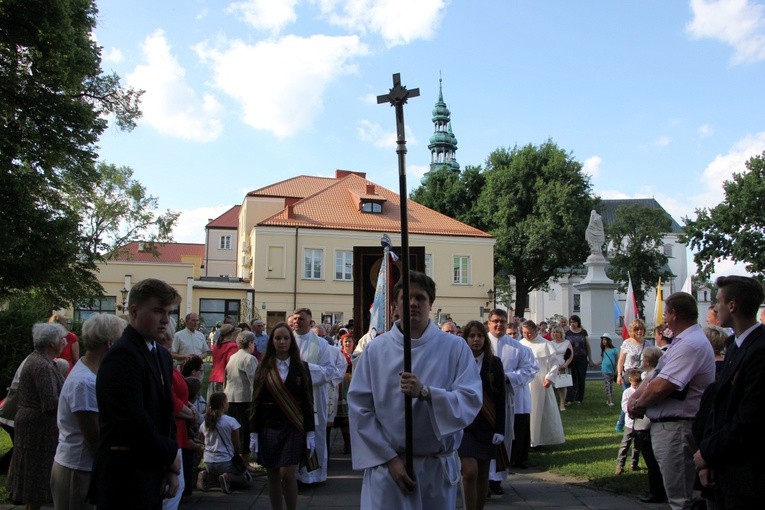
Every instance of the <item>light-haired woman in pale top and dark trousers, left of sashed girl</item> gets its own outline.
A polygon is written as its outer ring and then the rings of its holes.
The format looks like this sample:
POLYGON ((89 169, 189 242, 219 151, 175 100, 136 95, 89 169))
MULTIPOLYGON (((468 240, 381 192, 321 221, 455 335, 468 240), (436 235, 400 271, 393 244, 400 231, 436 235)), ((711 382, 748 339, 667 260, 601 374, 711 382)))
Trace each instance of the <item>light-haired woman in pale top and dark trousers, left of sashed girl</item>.
POLYGON ((250 455, 250 403, 252 402, 252 385, 255 382, 255 370, 258 368, 258 359, 253 355, 255 352, 255 333, 242 331, 236 337, 236 346, 239 350, 231 356, 226 364, 226 381, 223 385, 223 393, 228 399, 228 411, 226 414, 234 418, 241 425, 239 430, 239 454, 245 464, 249 462, 250 455))

